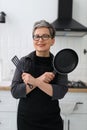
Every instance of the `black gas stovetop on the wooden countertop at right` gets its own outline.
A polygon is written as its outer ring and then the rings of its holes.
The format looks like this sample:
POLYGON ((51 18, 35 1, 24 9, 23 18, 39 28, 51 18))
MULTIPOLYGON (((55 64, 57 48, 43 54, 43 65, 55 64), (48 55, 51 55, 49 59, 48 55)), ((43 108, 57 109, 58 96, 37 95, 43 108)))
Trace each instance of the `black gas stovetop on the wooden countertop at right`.
POLYGON ((81 80, 79 81, 68 81, 69 88, 87 88, 87 84, 81 80))

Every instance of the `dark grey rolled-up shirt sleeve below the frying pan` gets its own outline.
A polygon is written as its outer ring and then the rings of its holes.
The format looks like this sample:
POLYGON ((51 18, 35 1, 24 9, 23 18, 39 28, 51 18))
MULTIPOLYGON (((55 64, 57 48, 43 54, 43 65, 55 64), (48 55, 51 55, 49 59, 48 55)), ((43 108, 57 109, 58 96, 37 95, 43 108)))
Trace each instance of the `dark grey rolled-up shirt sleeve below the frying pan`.
POLYGON ((51 85, 53 88, 52 99, 62 99, 68 91, 68 76, 57 74, 51 85))

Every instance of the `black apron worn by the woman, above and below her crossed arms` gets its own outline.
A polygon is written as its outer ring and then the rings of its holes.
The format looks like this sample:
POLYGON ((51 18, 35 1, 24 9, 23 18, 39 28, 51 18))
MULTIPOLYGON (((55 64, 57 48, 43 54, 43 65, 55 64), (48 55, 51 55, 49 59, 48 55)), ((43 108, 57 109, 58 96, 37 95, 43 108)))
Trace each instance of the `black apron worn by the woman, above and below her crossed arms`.
MULTIPOLYGON (((28 63, 28 62, 26 62, 28 63)), ((26 65, 26 64, 25 64, 26 65)), ((50 58, 34 57, 27 72, 38 77, 44 72, 53 71, 50 58)), ((38 87, 21 98, 17 114, 18 130, 63 130, 58 100, 41 91, 38 87)))

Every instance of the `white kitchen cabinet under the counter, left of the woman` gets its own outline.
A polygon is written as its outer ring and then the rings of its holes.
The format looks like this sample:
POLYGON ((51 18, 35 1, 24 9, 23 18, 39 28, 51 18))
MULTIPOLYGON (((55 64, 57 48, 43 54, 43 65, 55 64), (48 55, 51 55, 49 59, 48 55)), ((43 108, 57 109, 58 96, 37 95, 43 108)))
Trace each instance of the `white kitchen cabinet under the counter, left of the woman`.
POLYGON ((0 91, 0 130, 17 130, 17 100, 10 91, 0 91))

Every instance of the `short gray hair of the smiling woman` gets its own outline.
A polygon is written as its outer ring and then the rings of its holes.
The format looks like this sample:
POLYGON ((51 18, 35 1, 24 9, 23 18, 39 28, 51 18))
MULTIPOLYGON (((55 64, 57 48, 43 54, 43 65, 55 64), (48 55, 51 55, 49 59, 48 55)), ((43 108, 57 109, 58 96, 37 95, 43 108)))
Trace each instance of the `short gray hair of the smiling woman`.
POLYGON ((40 20, 40 21, 35 22, 35 24, 33 26, 32 35, 34 35, 35 30, 37 28, 40 28, 40 27, 46 27, 46 28, 48 28, 49 32, 50 32, 50 35, 51 35, 51 38, 55 37, 55 29, 54 29, 54 27, 52 26, 52 24, 50 24, 46 20, 40 20))

